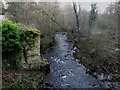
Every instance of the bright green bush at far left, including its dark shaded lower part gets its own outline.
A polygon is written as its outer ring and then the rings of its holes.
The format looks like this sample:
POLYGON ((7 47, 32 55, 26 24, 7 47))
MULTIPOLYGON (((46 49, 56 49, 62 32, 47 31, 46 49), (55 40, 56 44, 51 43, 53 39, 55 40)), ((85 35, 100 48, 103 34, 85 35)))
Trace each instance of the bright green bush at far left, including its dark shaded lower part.
POLYGON ((3 20, 0 23, 2 31, 2 54, 3 65, 6 69, 17 69, 20 61, 19 52, 22 49, 19 26, 10 20, 3 20))

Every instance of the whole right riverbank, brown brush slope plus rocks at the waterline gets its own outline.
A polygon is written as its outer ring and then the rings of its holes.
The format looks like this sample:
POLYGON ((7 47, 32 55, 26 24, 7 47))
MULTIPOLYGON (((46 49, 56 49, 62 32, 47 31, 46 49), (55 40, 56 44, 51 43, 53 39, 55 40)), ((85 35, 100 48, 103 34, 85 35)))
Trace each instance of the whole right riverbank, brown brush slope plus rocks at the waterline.
POLYGON ((107 32, 94 31, 91 38, 81 37, 74 46, 79 46, 74 57, 79 59, 86 72, 103 82, 107 88, 120 88, 118 51, 115 40, 108 38, 107 32), (104 38, 104 39, 103 39, 104 38))

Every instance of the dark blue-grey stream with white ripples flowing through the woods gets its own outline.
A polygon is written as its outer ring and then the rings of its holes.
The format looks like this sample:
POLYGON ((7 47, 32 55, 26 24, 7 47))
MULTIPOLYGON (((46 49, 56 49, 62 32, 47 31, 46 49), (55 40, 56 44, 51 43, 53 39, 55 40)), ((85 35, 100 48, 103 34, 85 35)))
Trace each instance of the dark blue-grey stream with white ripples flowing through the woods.
POLYGON ((67 42, 67 33, 55 35, 56 45, 48 49, 45 57, 50 63, 51 72, 47 76, 55 88, 100 88, 100 81, 86 74, 84 65, 73 57, 72 42, 67 42))

